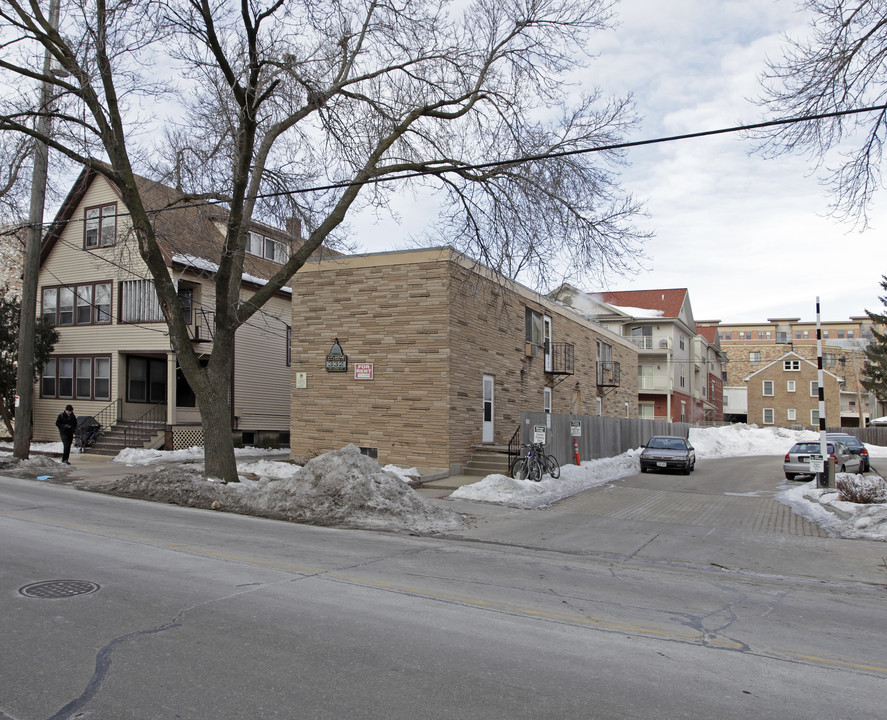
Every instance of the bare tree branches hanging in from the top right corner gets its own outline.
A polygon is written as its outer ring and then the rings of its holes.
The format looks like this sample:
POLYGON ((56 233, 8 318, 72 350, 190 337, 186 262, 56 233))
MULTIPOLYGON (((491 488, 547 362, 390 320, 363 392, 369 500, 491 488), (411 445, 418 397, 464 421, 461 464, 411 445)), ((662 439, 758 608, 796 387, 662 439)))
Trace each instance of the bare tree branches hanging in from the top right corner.
MULTIPOLYGON (((804 0, 811 31, 787 39, 762 77, 761 104, 774 118, 840 113, 887 103, 887 0, 804 0)), ((806 152, 824 171, 831 211, 865 227, 882 187, 887 112, 781 125, 760 134, 772 155, 806 152)))

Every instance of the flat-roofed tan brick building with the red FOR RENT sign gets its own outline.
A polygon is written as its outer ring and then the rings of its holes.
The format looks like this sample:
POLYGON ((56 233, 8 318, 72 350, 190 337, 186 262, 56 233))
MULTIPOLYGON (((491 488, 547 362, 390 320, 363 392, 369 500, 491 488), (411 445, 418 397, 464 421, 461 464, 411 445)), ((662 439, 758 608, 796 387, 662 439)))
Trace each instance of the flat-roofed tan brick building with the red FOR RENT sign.
POLYGON ((638 416, 630 340, 450 248, 309 263, 293 328, 297 458, 354 443, 458 473, 524 411, 638 416))

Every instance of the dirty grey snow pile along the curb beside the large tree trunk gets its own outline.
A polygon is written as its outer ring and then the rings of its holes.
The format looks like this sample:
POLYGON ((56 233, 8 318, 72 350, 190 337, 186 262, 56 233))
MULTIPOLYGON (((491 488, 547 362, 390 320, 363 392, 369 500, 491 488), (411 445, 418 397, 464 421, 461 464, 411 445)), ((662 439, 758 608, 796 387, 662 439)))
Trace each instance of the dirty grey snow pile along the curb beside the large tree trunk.
MULTIPOLYGON (((164 468, 105 484, 81 483, 84 490, 188 507, 223 510, 276 520, 433 534, 461 529, 466 521, 425 500, 400 476, 387 472, 354 445, 314 458, 302 468, 288 463, 255 463, 258 482, 224 485, 197 469, 164 468), (291 472, 277 466, 289 465, 291 472), (271 479, 277 474, 279 479, 271 479), (288 475, 285 476, 284 475, 288 475)), ((248 471, 249 465, 239 471, 248 471)))

